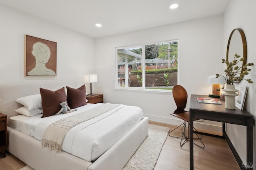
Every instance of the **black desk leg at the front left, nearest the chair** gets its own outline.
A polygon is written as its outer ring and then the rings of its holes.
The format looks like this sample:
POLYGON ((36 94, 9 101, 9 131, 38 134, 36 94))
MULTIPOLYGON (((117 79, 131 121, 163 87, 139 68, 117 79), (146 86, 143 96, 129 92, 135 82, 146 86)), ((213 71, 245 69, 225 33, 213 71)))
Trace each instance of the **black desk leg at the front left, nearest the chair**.
POLYGON ((190 170, 194 170, 194 148, 193 148, 193 111, 189 112, 189 158, 190 158, 190 170))

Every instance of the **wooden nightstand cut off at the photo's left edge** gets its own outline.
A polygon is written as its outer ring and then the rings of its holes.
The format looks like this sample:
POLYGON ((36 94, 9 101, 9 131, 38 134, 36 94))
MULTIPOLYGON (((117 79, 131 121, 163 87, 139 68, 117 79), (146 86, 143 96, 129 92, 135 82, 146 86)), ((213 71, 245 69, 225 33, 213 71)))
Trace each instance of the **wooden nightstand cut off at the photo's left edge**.
POLYGON ((3 157, 6 157, 7 146, 7 115, 0 113, 0 151, 3 157))

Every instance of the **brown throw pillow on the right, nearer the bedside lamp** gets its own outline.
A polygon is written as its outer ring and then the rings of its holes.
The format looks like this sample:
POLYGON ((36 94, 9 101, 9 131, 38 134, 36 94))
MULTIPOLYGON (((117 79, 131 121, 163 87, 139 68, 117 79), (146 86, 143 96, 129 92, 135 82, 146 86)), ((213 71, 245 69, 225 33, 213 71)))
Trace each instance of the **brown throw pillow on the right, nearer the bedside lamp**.
POLYGON ((67 86, 67 102, 70 109, 75 109, 80 106, 86 105, 86 88, 82 85, 78 89, 73 89, 67 86))

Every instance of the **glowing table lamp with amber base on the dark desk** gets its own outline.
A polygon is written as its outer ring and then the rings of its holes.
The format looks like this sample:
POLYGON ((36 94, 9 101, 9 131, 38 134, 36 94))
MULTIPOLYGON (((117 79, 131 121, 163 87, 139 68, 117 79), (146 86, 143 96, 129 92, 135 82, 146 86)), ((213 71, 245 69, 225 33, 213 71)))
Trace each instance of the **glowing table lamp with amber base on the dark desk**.
POLYGON ((222 76, 216 78, 216 75, 210 75, 207 83, 212 84, 212 94, 209 94, 209 97, 220 98, 220 91, 217 91, 217 89, 220 89, 220 84, 226 83, 225 78, 222 76))

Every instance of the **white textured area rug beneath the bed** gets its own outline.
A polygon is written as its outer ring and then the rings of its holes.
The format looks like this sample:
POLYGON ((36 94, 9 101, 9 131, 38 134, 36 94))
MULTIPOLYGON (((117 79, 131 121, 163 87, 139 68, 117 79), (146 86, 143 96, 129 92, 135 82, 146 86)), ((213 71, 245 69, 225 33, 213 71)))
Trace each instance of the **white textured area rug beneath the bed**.
MULTIPOLYGON (((152 170, 167 138, 169 128, 148 125, 148 137, 133 154, 123 170, 152 170)), ((20 170, 33 170, 28 165, 20 170)))

